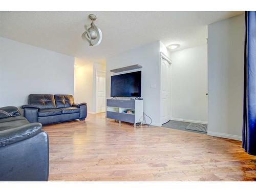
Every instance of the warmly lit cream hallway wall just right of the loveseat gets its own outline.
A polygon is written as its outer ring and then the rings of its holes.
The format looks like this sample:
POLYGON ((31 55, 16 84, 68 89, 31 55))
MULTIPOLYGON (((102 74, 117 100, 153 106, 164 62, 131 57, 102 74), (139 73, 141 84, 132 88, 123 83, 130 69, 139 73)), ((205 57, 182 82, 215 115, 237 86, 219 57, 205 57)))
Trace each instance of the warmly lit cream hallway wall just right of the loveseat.
POLYGON ((75 58, 74 99, 76 102, 86 102, 88 113, 96 113, 95 104, 95 72, 105 71, 104 63, 91 63, 75 58))

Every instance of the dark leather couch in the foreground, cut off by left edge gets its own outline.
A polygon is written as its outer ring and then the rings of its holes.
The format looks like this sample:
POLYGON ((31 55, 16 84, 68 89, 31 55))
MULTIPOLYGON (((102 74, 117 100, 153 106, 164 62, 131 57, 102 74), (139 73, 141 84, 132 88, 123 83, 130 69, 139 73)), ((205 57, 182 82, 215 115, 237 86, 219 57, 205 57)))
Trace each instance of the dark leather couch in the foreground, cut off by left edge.
POLYGON ((49 141, 42 125, 29 123, 15 106, 0 111, 8 115, 0 118, 0 181, 47 181, 49 141))

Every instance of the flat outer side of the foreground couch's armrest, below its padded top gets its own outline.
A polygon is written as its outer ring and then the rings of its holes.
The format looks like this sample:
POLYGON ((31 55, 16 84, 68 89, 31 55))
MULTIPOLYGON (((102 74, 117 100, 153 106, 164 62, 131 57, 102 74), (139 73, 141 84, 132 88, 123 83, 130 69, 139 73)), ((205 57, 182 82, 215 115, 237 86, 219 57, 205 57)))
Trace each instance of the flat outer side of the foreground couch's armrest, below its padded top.
MULTIPOLYGON (((39 131, 39 130, 38 130, 39 131)), ((49 139, 46 132, 0 147, 0 181, 47 181, 49 139)))

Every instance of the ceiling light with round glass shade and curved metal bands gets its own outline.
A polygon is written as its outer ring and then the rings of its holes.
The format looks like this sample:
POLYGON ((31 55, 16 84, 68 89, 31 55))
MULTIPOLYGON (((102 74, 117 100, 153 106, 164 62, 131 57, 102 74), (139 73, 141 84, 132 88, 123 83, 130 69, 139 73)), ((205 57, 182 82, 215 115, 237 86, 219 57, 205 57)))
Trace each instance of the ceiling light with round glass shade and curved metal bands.
POLYGON ((93 14, 89 15, 92 20, 91 25, 84 25, 86 31, 82 34, 82 39, 88 41, 90 46, 98 46, 102 40, 102 32, 93 22, 97 17, 93 14))

